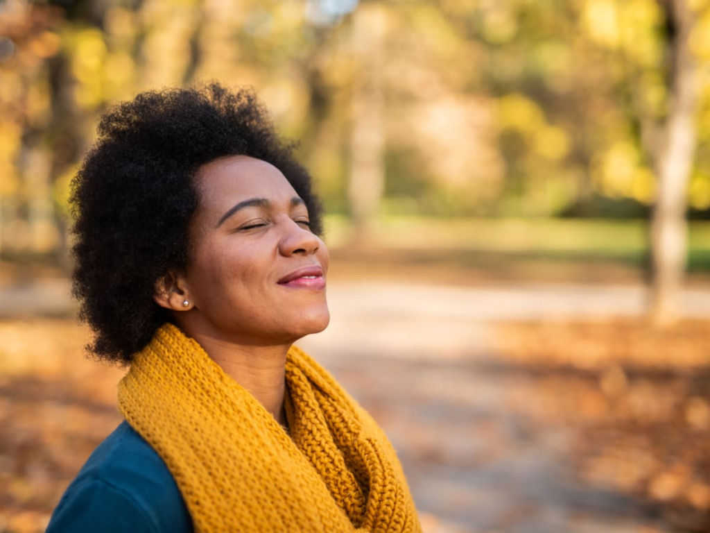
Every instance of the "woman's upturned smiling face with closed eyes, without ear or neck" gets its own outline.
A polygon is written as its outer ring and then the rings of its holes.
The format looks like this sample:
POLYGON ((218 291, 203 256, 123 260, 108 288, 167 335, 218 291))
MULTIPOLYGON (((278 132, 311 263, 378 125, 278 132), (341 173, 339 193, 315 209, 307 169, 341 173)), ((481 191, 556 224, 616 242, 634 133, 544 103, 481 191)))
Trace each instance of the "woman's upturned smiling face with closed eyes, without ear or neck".
POLYGON ((202 166, 196 178, 200 204, 182 276, 191 306, 180 323, 258 345, 324 330, 328 250, 278 168, 231 156, 202 166))

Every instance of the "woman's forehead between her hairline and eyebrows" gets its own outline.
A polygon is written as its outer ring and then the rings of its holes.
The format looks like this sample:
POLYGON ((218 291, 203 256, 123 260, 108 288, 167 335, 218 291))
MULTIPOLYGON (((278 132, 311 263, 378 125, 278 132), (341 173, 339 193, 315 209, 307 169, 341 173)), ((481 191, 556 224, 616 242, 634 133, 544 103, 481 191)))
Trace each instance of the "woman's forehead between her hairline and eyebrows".
POLYGON ((223 208, 251 198, 275 203, 297 196, 293 186, 271 163, 249 156, 219 158, 195 175, 202 208, 223 208))

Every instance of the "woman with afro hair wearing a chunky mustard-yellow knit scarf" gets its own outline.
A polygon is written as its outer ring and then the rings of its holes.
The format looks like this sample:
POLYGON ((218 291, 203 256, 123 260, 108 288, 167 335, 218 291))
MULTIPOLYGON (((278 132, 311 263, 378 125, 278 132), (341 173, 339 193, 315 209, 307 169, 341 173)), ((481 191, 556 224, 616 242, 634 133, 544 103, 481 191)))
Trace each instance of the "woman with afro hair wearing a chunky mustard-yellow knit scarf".
POLYGON ((72 202, 91 349, 130 370, 48 532, 420 530, 382 431, 292 346, 329 321, 321 208, 251 92, 119 105, 72 202))

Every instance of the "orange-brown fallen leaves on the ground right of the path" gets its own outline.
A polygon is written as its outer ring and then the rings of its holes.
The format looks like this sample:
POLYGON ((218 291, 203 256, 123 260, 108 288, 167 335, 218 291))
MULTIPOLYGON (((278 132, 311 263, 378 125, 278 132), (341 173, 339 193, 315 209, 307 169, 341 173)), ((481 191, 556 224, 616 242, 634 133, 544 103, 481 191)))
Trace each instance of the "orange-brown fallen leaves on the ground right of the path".
POLYGON ((553 401, 538 415, 574 426, 579 475, 710 529, 710 321, 508 323, 497 339, 504 360, 542 376, 553 401))

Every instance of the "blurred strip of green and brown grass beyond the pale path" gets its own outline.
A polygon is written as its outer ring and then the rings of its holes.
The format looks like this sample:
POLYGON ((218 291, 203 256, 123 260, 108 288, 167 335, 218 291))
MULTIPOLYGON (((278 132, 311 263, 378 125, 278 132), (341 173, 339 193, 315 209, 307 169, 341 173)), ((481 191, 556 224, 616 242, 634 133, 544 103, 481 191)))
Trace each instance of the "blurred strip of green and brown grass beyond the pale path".
MULTIPOLYGON (((346 217, 325 218, 331 276, 481 281, 643 282, 648 270, 645 220, 382 217, 354 239, 346 217)), ((689 281, 710 282, 710 222, 689 225, 689 281)), ((0 283, 67 275, 46 258, 5 257, 0 283)))

